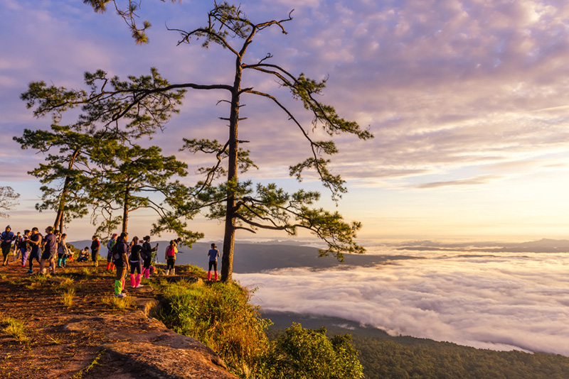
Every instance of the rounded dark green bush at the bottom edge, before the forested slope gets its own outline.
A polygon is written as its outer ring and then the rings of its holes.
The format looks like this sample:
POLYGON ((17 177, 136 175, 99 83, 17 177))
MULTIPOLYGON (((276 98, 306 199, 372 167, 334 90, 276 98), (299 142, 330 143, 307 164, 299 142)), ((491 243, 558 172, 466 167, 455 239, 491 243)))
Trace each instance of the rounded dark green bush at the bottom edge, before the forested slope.
POLYGON ((274 342, 264 365, 267 379, 362 378, 351 336, 326 337, 326 328, 303 329, 293 323, 274 342))

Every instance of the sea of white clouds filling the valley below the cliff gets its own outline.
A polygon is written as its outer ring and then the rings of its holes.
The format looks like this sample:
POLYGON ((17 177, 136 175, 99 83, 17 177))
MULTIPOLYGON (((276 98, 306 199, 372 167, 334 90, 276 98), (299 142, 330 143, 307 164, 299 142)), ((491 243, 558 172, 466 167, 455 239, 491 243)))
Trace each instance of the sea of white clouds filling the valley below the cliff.
POLYGON ((404 253, 420 259, 233 278, 257 287, 253 302, 265 310, 341 317, 394 336, 569 356, 568 253, 404 253))

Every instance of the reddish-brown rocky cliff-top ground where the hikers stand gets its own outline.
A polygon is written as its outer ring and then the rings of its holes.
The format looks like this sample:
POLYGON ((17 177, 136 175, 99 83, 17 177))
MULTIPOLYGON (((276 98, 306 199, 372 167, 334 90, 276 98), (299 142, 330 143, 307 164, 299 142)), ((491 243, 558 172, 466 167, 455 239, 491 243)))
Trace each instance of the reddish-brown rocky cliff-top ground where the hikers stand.
MULTIPOLYGON (((0 266, 0 378, 236 378, 211 349, 151 317, 159 309, 152 280, 127 283, 119 300, 105 268, 73 262, 30 275, 0 266)), ((200 280, 176 274, 169 280, 200 280)))

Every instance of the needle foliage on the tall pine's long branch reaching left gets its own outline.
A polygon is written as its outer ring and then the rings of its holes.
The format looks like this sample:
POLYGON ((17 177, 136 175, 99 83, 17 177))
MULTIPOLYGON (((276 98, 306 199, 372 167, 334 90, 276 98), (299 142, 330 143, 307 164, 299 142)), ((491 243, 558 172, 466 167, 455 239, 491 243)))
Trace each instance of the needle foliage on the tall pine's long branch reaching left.
MULTIPOLYGON (((32 82, 28 91, 21 94, 28 108, 34 108, 34 116, 51 114, 59 123, 63 112, 81 106, 82 113, 74 128, 80 132, 108 133, 119 141, 151 136, 162 128, 178 106, 185 89, 170 86, 156 68, 150 75, 107 77, 107 72, 85 72, 85 84, 89 90, 69 90, 65 87, 32 82), (137 106, 134 106, 136 104, 137 106), (124 123, 127 121, 127 123, 124 123)), ((105 140, 110 139, 105 138, 105 140)))

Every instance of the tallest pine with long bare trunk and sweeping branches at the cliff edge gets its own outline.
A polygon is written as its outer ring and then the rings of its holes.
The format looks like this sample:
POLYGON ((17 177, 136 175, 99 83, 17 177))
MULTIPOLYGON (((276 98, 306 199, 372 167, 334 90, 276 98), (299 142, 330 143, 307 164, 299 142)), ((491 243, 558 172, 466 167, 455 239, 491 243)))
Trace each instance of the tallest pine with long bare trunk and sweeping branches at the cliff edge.
MULTIPOLYGON (((105 4, 109 2, 109 0, 85 1, 95 11, 101 13, 106 10, 105 4)), ((136 16, 134 12, 138 4, 128 1, 127 11, 120 11, 117 0, 112 0, 112 3, 129 23, 137 43, 146 43, 147 37, 144 31, 149 23, 145 22, 143 28, 138 28, 134 23, 136 16)), ((134 125, 138 125, 137 123, 145 123, 149 119, 160 119, 166 114, 169 116, 171 112, 169 102, 181 101, 184 89, 225 92, 226 98, 221 101, 229 104, 228 117, 221 119, 228 122, 228 139, 225 143, 186 140, 184 148, 193 152, 213 153, 216 155, 216 162, 211 167, 203 169, 206 177, 194 187, 191 194, 188 194, 187 204, 166 216, 172 220, 184 216, 191 217, 198 209, 204 209, 207 217, 224 222, 222 280, 230 280, 233 273, 233 246, 235 231, 238 229, 252 232, 257 229, 270 229, 285 231, 291 235, 296 234, 298 229, 307 229, 327 244, 327 248, 321 250, 322 255, 331 253, 341 260, 343 253, 364 251, 354 241, 356 232, 361 228, 359 222, 347 223, 338 212, 314 208, 314 203, 319 199, 317 192, 306 192, 301 189, 289 194, 274 184, 259 184, 254 188, 251 181, 239 180, 239 174, 252 167, 248 156, 243 155, 244 150, 239 146, 243 142, 238 136, 240 121, 243 121, 240 116, 240 108, 243 106, 241 100, 242 96, 253 95, 267 99, 280 109, 309 143, 309 158, 292 165, 289 169, 290 175, 302 180, 304 170, 312 169, 317 173, 322 185, 329 189, 334 200, 337 201, 341 194, 346 192, 344 180, 339 175, 332 175, 328 168, 329 159, 324 158, 326 155, 338 152, 334 141, 315 140, 310 133, 310 127, 305 128, 297 116, 279 99, 269 92, 261 92, 252 86, 244 85, 245 71, 273 79, 278 87, 289 89, 292 97, 302 101, 304 108, 312 114, 313 130, 321 126, 329 136, 349 133, 364 140, 373 137, 369 131, 362 130, 358 123, 342 119, 336 114, 334 107, 317 100, 317 96, 325 87, 326 79, 315 81, 302 73, 294 75, 279 65, 268 63, 272 58, 270 54, 255 62, 246 62, 248 48, 257 33, 271 27, 287 33, 284 24, 288 21, 292 21, 291 13, 282 20, 254 23, 245 17, 240 8, 226 2, 223 4, 214 2, 213 9, 208 13, 206 26, 192 31, 173 29, 181 35, 179 45, 191 43, 194 39, 203 39, 204 47, 207 48, 213 43, 232 54, 235 58, 235 72, 233 82, 229 84, 191 82, 169 84, 159 77, 155 69, 152 69, 152 75, 148 80, 136 80, 137 78, 131 77, 130 82, 120 82, 118 78, 108 79, 105 72, 97 71, 95 75, 86 75, 87 84, 91 87, 89 94, 85 91, 68 91, 55 86, 47 87, 45 83, 37 82, 30 84, 30 89, 22 97, 28 100, 28 106, 34 106, 36 101, 38 102, 35 111, 38 115, 58 113, 83 104, 83 109, 87 111, 87 116, 83 119, 87 122, 101 119, 105 125, 109 125, 110 122, 118 123, 123 117, 127 117, 134 120, 134 125), (108 89, 107 82, 113 84, 111 89, 108 89), (222 176, 225 177, 223 182, 214 182, 222 176)))

